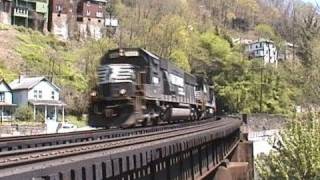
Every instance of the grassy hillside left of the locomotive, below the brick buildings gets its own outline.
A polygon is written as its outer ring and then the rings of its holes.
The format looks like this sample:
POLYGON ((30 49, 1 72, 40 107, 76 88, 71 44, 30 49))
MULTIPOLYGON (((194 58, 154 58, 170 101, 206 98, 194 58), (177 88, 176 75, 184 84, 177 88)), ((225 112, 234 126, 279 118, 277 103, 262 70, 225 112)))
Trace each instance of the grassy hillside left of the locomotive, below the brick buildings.
POLYGON ((0 25, 0 76, 10 82, 20 74, 44 75, 61 87, 68 111, 81 115, 96 65, 109 45, 108 39, 61 42, 24 27, 0 25))

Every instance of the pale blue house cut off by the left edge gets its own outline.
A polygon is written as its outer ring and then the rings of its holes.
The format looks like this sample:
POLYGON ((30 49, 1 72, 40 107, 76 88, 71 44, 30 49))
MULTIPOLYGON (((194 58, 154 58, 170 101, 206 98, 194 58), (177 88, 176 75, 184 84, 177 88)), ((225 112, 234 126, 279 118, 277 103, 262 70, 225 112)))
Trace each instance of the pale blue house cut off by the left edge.
POLYGON ((12 103, 12 90, 5 80, 0 80, 1 122, 12 120, 16 105, 12 103))

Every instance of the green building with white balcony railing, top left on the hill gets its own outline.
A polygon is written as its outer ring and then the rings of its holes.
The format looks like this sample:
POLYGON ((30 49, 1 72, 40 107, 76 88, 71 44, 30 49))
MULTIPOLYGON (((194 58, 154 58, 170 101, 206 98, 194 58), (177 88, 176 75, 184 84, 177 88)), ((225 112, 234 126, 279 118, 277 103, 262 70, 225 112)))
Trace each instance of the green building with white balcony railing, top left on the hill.
POLYGON ((47 30, 48 0, 13 0, 12 24, 47 30))

